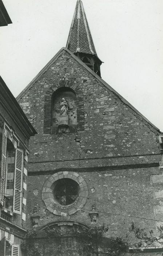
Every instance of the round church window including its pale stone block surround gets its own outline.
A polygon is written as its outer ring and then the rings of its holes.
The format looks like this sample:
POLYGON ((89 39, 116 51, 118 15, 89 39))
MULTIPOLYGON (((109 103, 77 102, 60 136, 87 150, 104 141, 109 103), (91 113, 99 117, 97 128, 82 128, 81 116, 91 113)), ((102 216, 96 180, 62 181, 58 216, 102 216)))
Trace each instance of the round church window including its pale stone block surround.
POLYGON ((50 175, 42 190, 42 199, 46 208, 53 214, 61 216, 81 210, 87 197, 87 183, 76 172, 60 171, 50 175))

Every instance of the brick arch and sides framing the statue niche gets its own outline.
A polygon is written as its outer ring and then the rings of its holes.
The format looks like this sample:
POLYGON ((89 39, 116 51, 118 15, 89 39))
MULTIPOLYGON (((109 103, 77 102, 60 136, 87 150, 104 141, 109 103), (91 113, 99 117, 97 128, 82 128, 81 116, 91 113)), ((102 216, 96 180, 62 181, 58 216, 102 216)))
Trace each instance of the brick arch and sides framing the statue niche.
POLYGON ((57 82, 52 85, 46 92, 44 97, 44 134, 52 133, 52 95, 61 87, 67 87, 76 94, 77 103, 77 130, 84 131, 84 102, 81 88, 72 84, 69 80, 57 82))

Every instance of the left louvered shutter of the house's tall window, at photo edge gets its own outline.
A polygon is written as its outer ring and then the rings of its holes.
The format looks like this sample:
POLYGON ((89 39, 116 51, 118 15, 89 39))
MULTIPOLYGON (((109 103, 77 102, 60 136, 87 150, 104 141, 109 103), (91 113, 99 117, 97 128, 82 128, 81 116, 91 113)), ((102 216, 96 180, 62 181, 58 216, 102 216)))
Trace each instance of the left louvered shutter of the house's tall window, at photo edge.
POLYGON ((5 172, 6 172, 6 148, 7 148, 7 134, 3 131, 2 139, 2 159, 1 159, 1 179, 0 179, 0 203, 4 205, 5 193, 5 172))

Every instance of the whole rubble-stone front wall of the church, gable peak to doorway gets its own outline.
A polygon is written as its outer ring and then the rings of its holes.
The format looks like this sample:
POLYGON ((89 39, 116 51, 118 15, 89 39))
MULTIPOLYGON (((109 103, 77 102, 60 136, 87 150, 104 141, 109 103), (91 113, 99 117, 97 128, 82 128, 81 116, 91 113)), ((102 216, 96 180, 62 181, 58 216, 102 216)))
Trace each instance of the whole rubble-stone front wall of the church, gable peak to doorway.
MULTIPOLYGON (((29 142, 28 227, 34 206, 40 226, 64 219, 91 226, 89 212, 95 203, 97 223, 109 226, 108 237, 124 236, 132 221, 155 229, 156 222, 149 219, 162 214, 160 208, 154 211, 155 200, 162 196, 162 188, 154 184, 160 175, 160 133, 150 123, 65 50, 24 91, 19 103, 38 132, 29 142), (51 133, 50 98, 60 87, 76 95, 80 91, 83 112, 78 113, 75 133, 51 133), (88 186, 85 206, 72 215, 51 213, 41 197, 44 182, 60 171, 80 174, 88 186)), ((158 204, 162 207, 162 201, 158 204)))

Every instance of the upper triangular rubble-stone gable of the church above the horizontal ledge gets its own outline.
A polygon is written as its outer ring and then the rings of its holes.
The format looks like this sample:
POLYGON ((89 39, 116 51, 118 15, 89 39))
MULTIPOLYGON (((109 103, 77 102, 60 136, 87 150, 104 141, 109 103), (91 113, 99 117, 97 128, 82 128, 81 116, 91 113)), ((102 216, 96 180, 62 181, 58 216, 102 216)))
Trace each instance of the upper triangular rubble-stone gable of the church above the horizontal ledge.
POLYGON ((148 161, 158 162, 159 130, 120 97, 73 54, 61 49, 19 96, 20 106, 38 132, 31 141, 31 161, 36 157, 48 161, 49 155, 55 162, 79 157, 100 157, 107 162, 118 157, 122 165, 129 156, 145 161, 144 155, 149 155, 148 161), (60 89, 71 89, 77 100, 77 124, 65 132, 53 126, 53 95, 59 95, 60 89))

